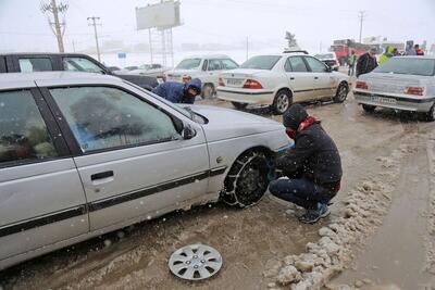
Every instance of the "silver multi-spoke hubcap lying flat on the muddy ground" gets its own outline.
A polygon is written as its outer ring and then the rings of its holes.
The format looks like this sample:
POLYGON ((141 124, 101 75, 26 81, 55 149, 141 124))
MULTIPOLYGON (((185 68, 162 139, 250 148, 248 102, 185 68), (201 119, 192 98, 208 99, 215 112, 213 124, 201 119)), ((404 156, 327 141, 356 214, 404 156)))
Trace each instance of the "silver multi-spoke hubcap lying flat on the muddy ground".
POLYGON ((169 266, 182 279, 202 280, 221 269, 222 256, 211 247, 190 244, 176 250, 170 257, 169 266))

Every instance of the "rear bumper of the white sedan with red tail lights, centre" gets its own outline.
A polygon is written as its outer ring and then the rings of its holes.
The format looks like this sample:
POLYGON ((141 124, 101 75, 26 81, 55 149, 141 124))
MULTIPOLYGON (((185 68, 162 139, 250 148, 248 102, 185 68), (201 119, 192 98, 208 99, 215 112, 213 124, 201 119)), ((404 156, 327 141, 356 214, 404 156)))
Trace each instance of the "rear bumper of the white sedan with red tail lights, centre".
POLYGON ((275 93, 264 89, 233 89, 217 88, 217 98, 221 100, 248 104, 272 104, 275 93))

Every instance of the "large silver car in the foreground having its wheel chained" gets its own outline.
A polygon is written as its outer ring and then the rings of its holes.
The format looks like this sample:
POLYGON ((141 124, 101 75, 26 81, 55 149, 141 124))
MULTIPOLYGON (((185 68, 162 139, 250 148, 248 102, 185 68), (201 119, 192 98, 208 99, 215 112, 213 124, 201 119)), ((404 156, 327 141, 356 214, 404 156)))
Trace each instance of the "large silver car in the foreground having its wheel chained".
POLYGON ((284 127, 116 77, 0 76, 0 269, 178 209, 254 204, 284 127))

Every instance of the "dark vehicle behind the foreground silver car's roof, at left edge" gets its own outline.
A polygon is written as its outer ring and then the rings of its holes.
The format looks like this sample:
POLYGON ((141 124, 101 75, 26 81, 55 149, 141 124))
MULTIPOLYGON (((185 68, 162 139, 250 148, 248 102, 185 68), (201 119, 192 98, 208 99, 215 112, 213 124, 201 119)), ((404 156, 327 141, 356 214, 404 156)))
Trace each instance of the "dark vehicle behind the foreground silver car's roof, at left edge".
POLYGON ((102 63, 80 53, 8 53, 0 54, 0 73, 32 73, 44 71, 88 72, 117 76, 151 90, 159 83, 156 77, 114 74, 102 63))

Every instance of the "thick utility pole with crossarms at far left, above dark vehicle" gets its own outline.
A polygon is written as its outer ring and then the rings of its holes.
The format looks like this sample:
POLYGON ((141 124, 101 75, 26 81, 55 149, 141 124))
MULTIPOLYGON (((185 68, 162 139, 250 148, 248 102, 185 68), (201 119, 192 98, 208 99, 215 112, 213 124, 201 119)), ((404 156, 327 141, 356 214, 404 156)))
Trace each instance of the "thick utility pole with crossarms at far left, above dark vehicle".
POLYGON ((60 3, 59 5, 55 3, 55 0, 51 0, 50 4, 41 2, 41 11, 45 14, 51 13, 53 15, 53 21, 51 21, 50 15, 47 15, 48 23, 50 25, 51 30, 53 31, 55 38, 58 39, 58 48, 59 52, 64 52, 63 47, 63 35, 65 33, 65 18, 63 18, 62 23, 59 21, 59 13, 64 14, 69 9, 67 4, 60 3))

